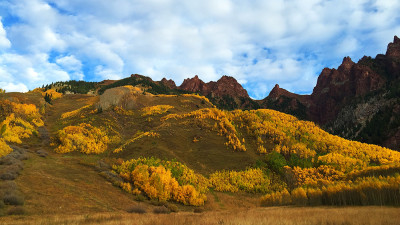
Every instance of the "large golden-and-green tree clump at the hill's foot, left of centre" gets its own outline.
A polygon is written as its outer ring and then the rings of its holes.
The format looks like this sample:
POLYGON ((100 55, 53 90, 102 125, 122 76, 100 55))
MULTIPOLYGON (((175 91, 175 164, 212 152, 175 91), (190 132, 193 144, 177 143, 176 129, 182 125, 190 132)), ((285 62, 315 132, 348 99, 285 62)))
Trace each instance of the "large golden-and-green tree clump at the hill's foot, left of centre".
POLYGON ((194 206, 203 205, 207 199, 202 194, 208 190, 208 183, 203 183, 206 178, 177 162, 139 158, 113 168, 125 181, 121 188, 133 194, 143 192, 151 199, 194 206))

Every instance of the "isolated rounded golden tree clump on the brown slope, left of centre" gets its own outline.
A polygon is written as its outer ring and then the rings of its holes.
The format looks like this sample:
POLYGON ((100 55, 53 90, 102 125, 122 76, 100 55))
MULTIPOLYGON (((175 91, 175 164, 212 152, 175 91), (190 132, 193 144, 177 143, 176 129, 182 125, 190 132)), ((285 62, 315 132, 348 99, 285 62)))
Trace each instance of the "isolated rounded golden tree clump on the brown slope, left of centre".
MULTIPOLYGON (((58 153, 79 151, 85 154, 99 154, 107 150, 109 139, 102 129, 90 124, 68 126, 57 132, 58 153)), ((54 143, 53 143, 54 144, 54 143)))

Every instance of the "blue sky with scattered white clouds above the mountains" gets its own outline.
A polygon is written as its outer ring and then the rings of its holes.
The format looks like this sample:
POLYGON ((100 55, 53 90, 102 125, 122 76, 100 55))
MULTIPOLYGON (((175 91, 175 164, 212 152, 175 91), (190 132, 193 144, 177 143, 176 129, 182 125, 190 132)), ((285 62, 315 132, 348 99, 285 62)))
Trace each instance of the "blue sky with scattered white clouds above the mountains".
POLYGON ((138 73, 309 94, 324 67, 386 52, 398 0, 0 0, 0 88, 138 73))

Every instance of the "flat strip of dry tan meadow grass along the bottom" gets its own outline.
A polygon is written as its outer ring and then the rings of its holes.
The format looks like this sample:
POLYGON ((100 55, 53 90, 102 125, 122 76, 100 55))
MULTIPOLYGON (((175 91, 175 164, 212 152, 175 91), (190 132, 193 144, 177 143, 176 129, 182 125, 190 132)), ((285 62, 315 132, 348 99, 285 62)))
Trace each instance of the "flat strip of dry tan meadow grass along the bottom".
POLYGON ((79 216, 56 215, 6 217, 2 224, 224 224, 224 225, 358 225, 400 223, 400 209, 390 207, 346 207, 346 208, 296 208, 270 207, 248 210, 231 210, 204 213, 145 214, 102 213, 79 216))

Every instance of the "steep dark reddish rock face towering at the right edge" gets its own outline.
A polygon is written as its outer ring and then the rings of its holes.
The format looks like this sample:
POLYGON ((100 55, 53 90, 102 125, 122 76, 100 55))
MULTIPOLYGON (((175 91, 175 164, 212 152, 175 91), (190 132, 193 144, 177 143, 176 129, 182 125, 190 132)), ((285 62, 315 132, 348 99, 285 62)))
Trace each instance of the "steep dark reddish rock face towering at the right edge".
POLYGON ((312 120, 345 138, 400 149, 400 39, 386 54, 345 57, 337 69, 325 68, 311 95, 274 87, 262 107, 312 120))

